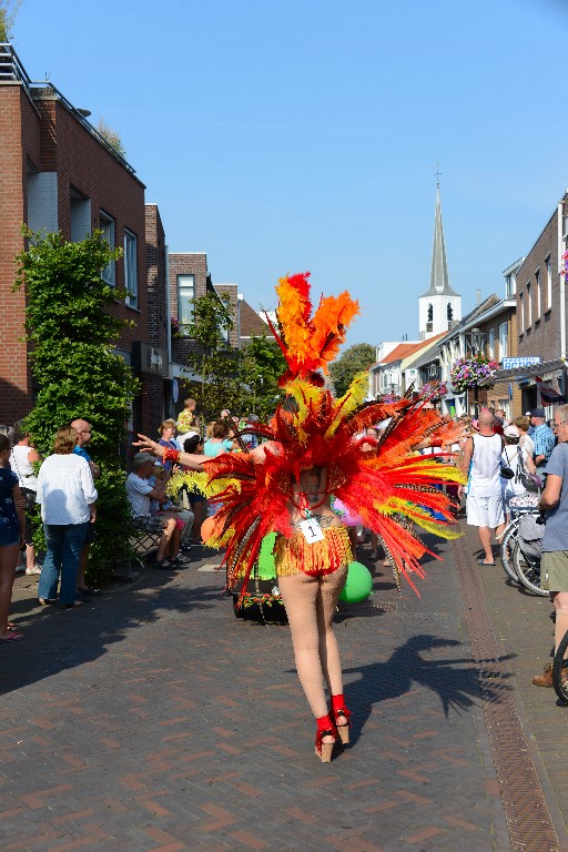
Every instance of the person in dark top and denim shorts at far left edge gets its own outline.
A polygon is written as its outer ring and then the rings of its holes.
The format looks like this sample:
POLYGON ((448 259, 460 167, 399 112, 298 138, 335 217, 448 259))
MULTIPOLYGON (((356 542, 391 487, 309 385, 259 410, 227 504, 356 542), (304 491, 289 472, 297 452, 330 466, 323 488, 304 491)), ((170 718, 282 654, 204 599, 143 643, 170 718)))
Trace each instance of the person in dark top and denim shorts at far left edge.
POLYGON ((12 600, 16 564, 24 546, 26 517, 18 477, 10 470, 10 439, 0 435, 0 642, 17 642, 23 636, 8 621, 12 600))

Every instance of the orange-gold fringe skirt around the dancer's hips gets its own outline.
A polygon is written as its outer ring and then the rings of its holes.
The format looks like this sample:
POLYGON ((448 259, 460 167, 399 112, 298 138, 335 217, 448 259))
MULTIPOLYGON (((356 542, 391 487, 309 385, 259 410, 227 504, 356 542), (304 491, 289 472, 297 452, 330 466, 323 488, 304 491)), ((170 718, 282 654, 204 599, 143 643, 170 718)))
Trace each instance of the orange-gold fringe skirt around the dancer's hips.
POLYGON ((274 545, 274 559, 278 577, 307 574, 317 577, 332 574, 353 561, 349 534, 345 527, 327 527, 324 540, 308 544, 303 532, 290 538, 278 536, 274 545))

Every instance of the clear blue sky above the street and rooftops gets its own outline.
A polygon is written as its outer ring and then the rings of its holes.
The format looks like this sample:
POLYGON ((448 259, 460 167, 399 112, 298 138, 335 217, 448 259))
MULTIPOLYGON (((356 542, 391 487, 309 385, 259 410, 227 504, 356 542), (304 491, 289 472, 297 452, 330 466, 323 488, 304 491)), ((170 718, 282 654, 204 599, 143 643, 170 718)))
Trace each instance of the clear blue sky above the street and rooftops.
POLYGON ((171 251, 272 307, 359 300, 348 344, 417 336, 436 163, 464 312, 568 186, 565 0, 23 0, 30 77, 119 131, 171 251))

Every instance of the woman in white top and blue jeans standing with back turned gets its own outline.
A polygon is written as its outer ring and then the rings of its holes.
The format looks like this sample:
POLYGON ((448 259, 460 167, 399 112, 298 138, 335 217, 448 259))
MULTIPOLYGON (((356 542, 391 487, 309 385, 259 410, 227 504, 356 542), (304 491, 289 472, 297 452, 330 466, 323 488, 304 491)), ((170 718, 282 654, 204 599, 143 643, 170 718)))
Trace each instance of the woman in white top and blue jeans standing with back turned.
POLYGON ((41 504, 41 519, 48 542, 48 552, 38 586, 41 606, 57 602, 63 608, 79 606, 75 600, 77 572, 89 523, 97 519, 97 490, 89 463, 73 453, 77 432, 72 426, 59 429, 53 443, 53 455, 48 456, 38 476, 37 500, 41 504))

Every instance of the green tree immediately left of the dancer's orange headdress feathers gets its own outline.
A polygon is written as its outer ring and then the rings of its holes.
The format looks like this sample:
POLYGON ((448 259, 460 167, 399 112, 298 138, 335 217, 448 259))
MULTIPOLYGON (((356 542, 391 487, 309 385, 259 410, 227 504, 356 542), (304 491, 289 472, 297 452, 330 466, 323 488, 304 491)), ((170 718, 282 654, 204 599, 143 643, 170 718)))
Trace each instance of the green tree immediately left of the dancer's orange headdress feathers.
POLYGON ((246 388, 241 409, 268 419, 282 396, 278 378, 287 369, 280 346, 266 335, 253 336, 243 348, 242 377, 246 388))

